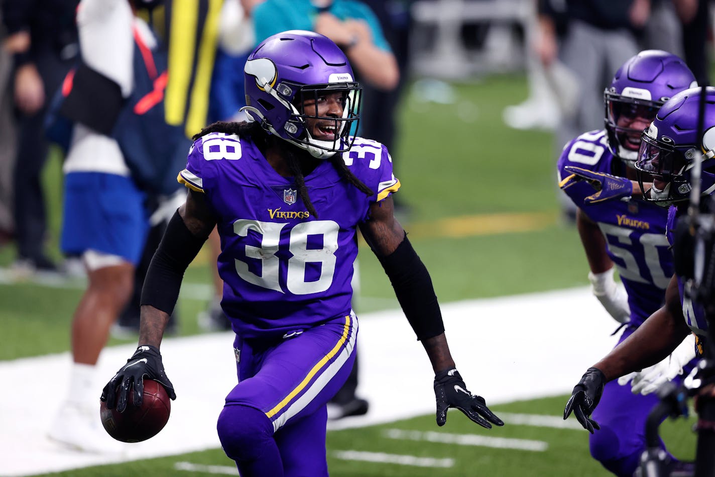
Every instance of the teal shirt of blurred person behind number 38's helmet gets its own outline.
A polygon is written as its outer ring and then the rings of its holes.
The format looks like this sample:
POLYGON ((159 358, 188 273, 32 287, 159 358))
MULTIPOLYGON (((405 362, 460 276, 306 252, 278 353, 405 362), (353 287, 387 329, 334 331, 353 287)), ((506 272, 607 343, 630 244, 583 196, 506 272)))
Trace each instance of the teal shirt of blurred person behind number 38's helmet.
MULTIPOLYGON (((364 20, 370 26, 375 46, 390 52, 380 21, 370 7, 355 0, 334 0, 327 10, 340 20, 364 20)), ((253 10, 256 45, 287 30, 313 30, 318 9, 310 0, 266 0, 253 10)))

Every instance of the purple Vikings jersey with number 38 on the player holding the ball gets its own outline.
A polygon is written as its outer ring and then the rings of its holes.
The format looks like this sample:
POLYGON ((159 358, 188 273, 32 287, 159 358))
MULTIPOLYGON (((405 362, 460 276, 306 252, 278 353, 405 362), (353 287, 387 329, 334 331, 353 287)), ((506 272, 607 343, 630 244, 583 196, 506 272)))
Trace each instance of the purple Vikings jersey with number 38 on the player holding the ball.
POLYGON ((358 224, 400 181, 387 148, 375 141, 355 138, 342 159, 374 194, 365 196, 323 161, 305 177, 315 217, 292 178, 279 175, 250 138, 212 133, 189 151, 179 182, 204 193, 217 217, 221 304, 244 339, 350 314, 358 224))

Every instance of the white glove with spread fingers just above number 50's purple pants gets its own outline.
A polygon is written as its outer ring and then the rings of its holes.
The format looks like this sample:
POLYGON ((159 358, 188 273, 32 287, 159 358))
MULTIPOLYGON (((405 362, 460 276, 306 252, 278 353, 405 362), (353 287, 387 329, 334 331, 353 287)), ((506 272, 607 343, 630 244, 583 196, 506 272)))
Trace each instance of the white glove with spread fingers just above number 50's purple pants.
POLYGON ((623 386, 631 381, 633 394, 650 394, 658 389, 664 382, 672 380, 677 375, 683 374, 683 367, 695 357, 695 335, 690 334, 673 350, 669 357, 663 361, 646 367, 646 369, 631 372, 631 374, 618 378, 618 384, 623 386))

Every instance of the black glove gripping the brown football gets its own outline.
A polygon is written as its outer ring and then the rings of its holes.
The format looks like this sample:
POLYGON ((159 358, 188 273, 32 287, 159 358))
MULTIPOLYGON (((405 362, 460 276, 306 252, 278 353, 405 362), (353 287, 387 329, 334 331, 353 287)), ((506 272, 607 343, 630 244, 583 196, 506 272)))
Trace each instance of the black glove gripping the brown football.
POLYGON ((169 381, 167 373, 164 372, 159 348, 142 344, 127 360, 127 364, 122 366, 122 369, 104 386, 102 397, 99 399, 107 402, 107 409, 114 408, 116 404, 117 410, 124 413, 124 410, 127 409, 129 390, 133 387, 134 405, 141 406, 144 400, 144 377, 160 382, 167 390, 169 397, 177 398, 174 385, 169 381), (119 397, 117 397, 117 387, 119 387, 119 397))

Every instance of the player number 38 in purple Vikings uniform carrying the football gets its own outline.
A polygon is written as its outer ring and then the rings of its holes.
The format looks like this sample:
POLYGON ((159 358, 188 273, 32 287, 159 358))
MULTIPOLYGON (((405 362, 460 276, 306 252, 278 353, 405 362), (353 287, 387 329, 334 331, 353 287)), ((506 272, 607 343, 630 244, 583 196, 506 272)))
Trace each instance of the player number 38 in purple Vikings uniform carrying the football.
POLYGON ((455 369, 428 271, 393 216, 400 182, 388 150, 350 136, 360 87, 345 54, 322 35, 283 32, 250 54, 245 76, 253 121, 197 135, 179 173, 187 200, 144 282, 139 347, 104 388, 107 407, 123 411, 132 390, 141 402, 144 377, 175 398, 159 344, 183 271, 217 226, 239 380, 217 424, 225 453, 244 477, 327 476, 326 403, 358 334, 350 279, 360 228, 432 364, 438 425, 448 408, 503 425, 455 369))

